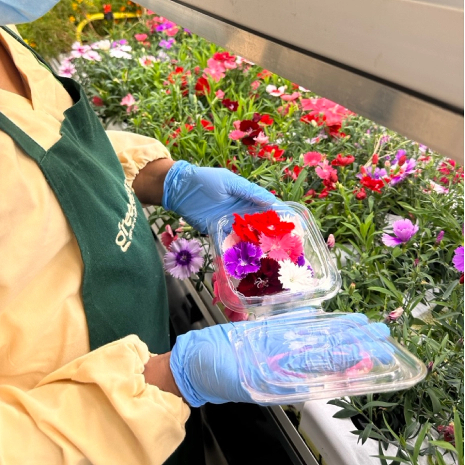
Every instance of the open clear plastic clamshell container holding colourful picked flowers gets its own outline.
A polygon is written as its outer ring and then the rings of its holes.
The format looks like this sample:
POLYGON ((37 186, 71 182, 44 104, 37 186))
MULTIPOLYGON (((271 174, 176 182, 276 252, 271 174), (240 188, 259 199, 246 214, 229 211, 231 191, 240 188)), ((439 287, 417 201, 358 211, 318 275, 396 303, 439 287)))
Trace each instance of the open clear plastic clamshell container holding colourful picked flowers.
POLYGON ((399 390, 425 376, 424 364, 384 324, 322 311, 340 275, 308 209, 279 202, 234 213, 212 220, 208 233, 218 298, 254 320, 228 332, 252 399, 289 403, 399 390), (254 215, 269 210, 275 213, 254 215))

